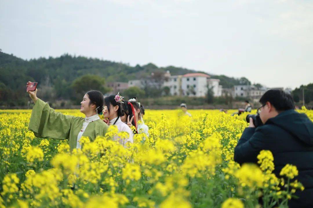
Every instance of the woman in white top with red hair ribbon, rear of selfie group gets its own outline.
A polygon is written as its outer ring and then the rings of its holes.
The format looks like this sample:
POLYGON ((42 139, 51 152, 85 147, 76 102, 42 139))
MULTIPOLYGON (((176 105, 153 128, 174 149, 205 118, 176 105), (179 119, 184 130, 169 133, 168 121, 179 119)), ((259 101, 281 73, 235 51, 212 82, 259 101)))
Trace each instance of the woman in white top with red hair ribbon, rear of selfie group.
POLYGON ((128 117, 127 117, 127 125, 129 127, 135 126, 136 132, 135 133, 145 133, 146 136, 149 136, 148 133, 148 126, 143 122, 141 117, 141 109, 140 109, 140 103, 137 102, 136 98, 132 98, 128 100, 128 117), (140 121, 139 121, 140 120, 140 121))

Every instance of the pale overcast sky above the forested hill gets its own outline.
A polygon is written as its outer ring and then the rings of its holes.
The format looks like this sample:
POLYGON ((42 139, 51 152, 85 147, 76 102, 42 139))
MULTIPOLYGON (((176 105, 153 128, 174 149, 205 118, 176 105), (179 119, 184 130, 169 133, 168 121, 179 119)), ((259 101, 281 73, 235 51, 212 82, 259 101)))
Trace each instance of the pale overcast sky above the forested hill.
POLYGON ((312 11, 312 0, 1 0, 0 48, 295 88, 313 82, 312 11))

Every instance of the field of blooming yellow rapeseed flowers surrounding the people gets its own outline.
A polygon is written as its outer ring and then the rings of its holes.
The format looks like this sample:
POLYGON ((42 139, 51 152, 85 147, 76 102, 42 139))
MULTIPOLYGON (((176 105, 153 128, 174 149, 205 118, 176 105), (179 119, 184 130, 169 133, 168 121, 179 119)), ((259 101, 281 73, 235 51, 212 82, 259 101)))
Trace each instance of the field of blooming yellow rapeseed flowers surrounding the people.
MULTIPOLYGON (((57 110, 83 116, 78 110, 57 110)), ((1 207, 263 207, 288 201, 304 187, 295 166, 272 173, 273 155, 261 151, 258 164, 233 161, 248 126, 244 118, 219 110, 146 110, 149 136, 110 126, 105 136, 68 141, 36 138, 28 130, 31 110, 0 110, 1 207)), ((310 110, 302 109, 313 120, 310 110)), ((253 112, 255 113, 255 112, 253 112)))

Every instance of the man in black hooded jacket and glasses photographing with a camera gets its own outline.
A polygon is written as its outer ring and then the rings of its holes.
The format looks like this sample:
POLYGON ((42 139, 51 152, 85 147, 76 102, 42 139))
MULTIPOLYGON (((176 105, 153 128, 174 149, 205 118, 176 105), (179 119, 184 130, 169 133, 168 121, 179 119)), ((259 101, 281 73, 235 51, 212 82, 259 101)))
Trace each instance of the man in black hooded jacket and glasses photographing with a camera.
POLYGON ((299 170, 298 179, 305 187, 296 191, 298 199, 292 198, 289 207, 313 207, 313 123, 305 115, 296 112, 290 94, 271 89, 259 101, 258 109, 264 125, 255 128, 253 119, 238 141, 234 161, 257 163, 261 150, 270 150, 274 156, 274 173, 279 176, 287 164, 299 170))

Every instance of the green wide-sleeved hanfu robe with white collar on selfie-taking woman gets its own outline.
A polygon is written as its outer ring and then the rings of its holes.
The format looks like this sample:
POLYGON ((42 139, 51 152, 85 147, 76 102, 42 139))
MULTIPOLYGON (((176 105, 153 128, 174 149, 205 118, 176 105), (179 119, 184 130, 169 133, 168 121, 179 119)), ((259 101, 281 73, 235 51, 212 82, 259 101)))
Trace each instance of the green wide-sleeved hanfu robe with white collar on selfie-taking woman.
POLYGON ((78 140, 81 136, 89 137, 93 141, 98 135, 105 135, 108 125, 99 119, 98 114, 89 118, 55 112, 48 103, 38 99, 33 107, 28 128, 39 138, 69 139, 72 150, 80 148, 78 140), (92 119, 88 120, 89 118, 92 119))

